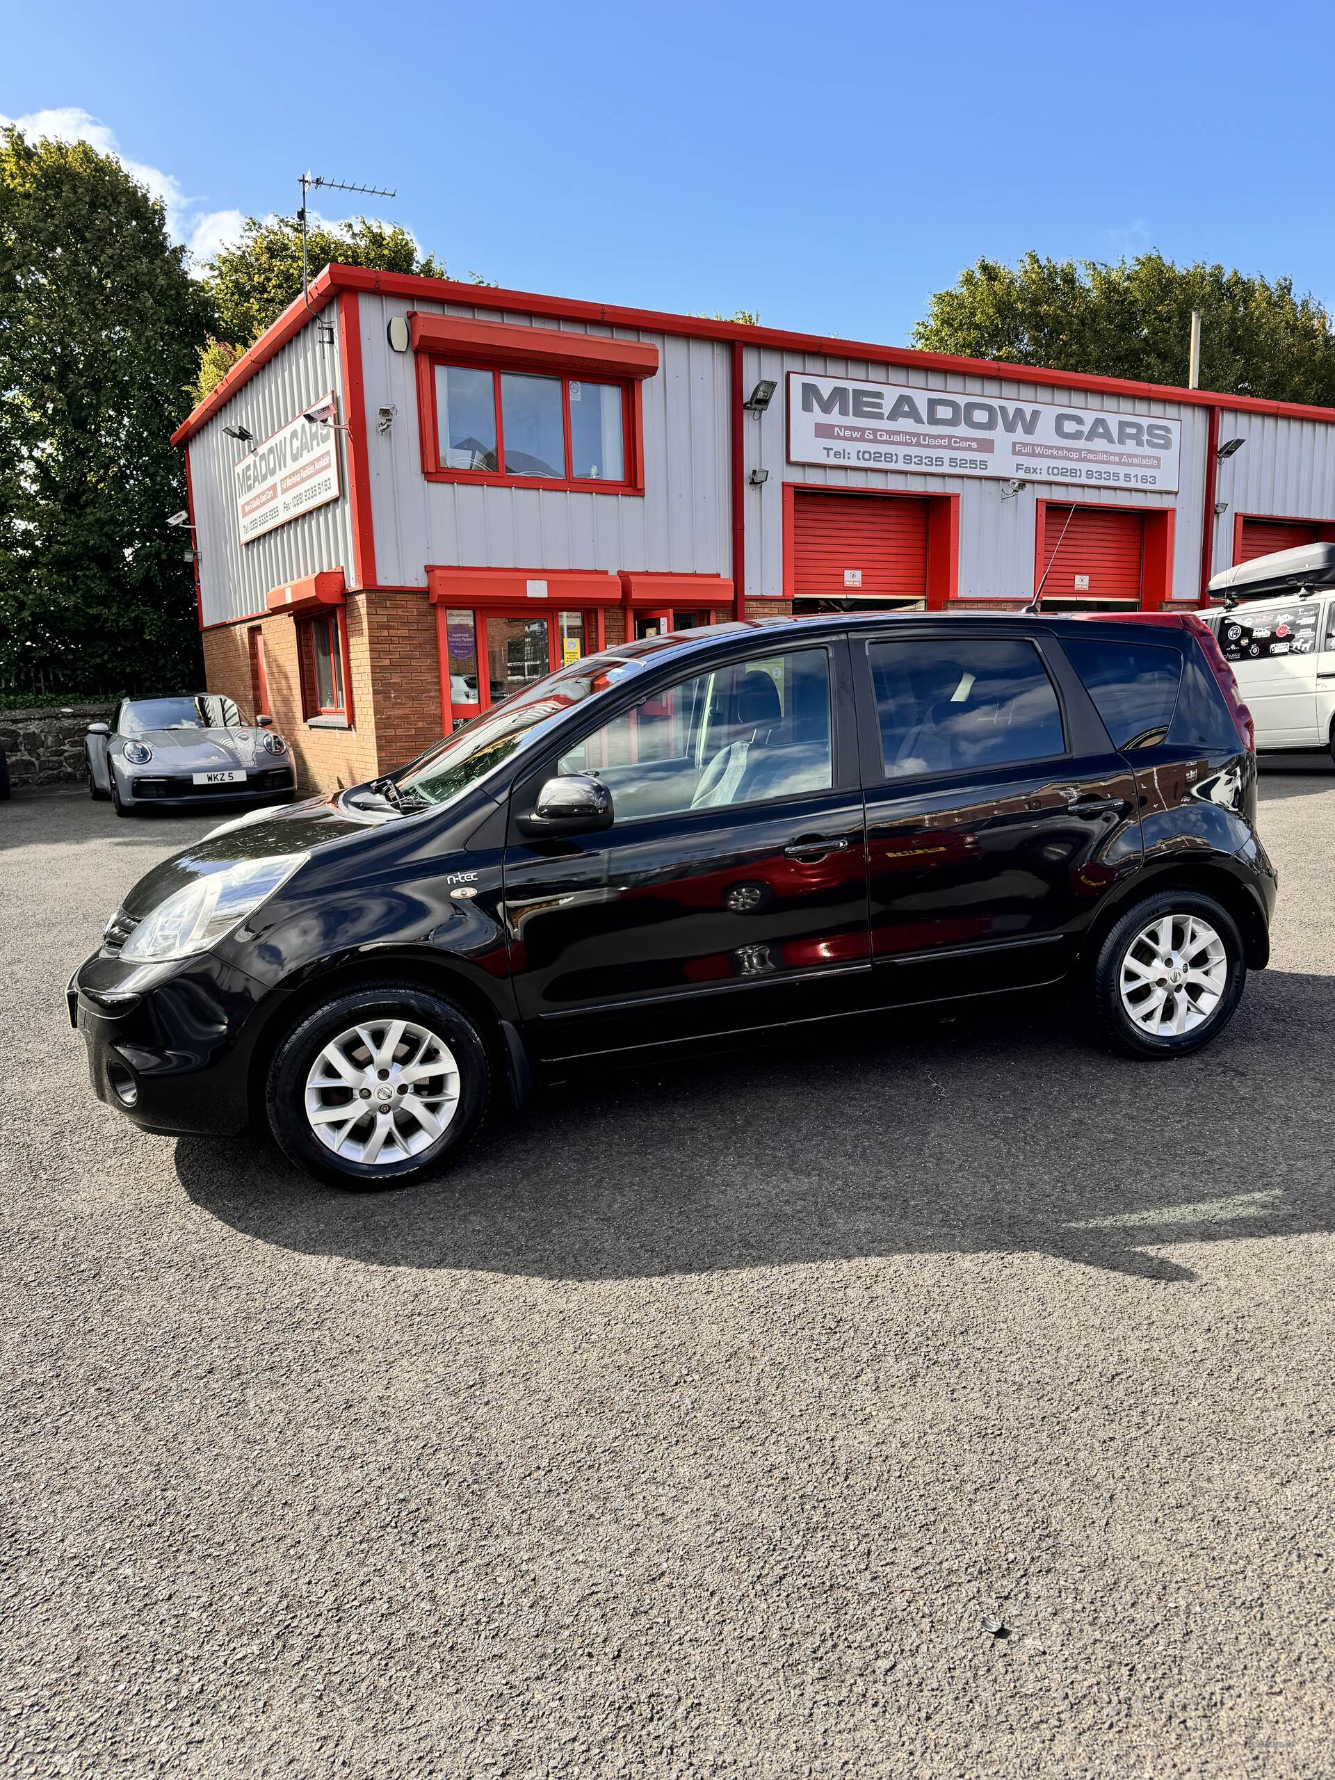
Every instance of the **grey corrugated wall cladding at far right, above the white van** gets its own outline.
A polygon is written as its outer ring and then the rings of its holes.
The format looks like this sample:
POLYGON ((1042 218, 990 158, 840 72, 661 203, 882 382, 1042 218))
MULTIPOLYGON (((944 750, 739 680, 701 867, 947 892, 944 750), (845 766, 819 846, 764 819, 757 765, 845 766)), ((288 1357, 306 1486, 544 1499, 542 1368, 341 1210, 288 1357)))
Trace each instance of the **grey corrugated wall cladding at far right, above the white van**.
POLYGON ((1244 443, 1219 465, 1214 498, 1226 500, 1228 511, 1214 522, 1212 571, 1234 561, 1234 518, 1239 513, 1335 520, 1335 425, 1225 409, 1219 415, 1219 443, 1226 440, 1244 443))

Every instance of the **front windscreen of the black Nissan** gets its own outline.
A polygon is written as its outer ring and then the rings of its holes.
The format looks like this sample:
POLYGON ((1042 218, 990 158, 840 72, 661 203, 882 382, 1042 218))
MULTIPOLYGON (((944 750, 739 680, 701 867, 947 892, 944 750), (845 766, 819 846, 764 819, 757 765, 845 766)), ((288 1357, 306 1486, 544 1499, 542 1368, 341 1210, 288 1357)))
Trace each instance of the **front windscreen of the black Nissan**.
POLYGON ((393 774, 402 803, 452 803, 470 785, 522 749, 534 748, 571 707, 643 673, 644 662, 623 655, 589 655, 557 668, 436 742, 420 760, 393 774))

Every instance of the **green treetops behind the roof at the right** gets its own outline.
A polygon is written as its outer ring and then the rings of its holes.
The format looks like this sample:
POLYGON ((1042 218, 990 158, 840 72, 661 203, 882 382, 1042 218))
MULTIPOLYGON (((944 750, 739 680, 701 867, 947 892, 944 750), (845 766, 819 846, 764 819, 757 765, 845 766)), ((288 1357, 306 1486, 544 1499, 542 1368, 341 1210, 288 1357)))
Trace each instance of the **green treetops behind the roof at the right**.
POLYGON ((1335 404, 1335 328, 1289 278, 1223 265, 1134 260, 979 260, 938 290, 913 329, 933 352, 1185 384, 1191 310, 1202 320, 1202 386, 1230 395, 1335 404))

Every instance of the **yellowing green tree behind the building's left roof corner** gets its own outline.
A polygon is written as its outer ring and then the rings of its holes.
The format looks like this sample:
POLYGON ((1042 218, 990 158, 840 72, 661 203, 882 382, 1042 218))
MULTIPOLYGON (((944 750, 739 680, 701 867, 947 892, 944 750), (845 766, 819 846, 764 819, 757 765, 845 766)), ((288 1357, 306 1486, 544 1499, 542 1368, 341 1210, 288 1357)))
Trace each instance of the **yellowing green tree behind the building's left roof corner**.
MULTIPOLYGON (((313 222, 306 231, 306 265, 315 278, 331 262, 367 265, 377 272, 417 272, 447 278, 434 255, 420 255, 399 222, 354 217, 333 226, 313 222)), ((468 274, 484 283, 477 272, 468 274)), ((222 247, 205 265, 205 290, 214 304, 215 340, 199 358, 194 399, 199 402, 226 376, 235 358, 276 322, 301 295, 301 222, 297 217, 247 217, 235 247, 222 247), (226 354, 233 352, 230 360, 226 354)))

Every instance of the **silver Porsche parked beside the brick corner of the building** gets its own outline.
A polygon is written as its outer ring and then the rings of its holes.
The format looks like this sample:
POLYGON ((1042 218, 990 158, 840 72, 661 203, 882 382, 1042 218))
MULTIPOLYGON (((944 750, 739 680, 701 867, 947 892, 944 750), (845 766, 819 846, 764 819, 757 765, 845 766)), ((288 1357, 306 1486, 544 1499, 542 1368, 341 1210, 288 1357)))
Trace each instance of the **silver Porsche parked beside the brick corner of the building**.
POLYGON ((125 698, 110 723, 89 724, 89 792, 117 815, 146 803, 283 803, 297 774, 271 724, 244 724, 221 692, 125 698))

